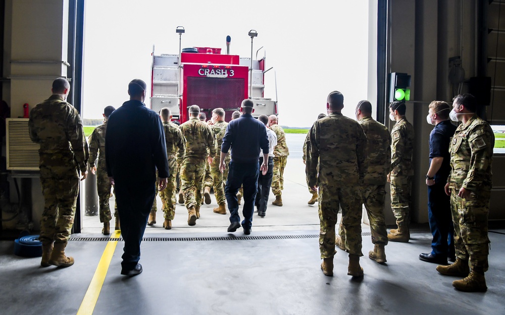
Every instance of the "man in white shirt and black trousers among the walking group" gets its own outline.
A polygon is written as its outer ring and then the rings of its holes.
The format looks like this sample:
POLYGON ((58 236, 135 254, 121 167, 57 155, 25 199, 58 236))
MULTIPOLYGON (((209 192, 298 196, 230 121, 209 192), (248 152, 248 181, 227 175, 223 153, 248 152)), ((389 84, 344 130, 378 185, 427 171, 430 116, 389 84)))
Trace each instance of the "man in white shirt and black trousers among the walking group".
MULTIPOLYGON (((255 202, 255 205, 258 207, 258 215, 260 217, 264 217, 265 213, 267 212, 268 196, 270 195, 270 186, 272 185, 272 176, 274 174, 274 148, 277 145, 277 135, 267 127, 267 115, 259 116, 258 120, 265 124, 269 144, 268 170, 265 175, 263 175, 263 173, 260 173, 260 176, 258 177, 258 192, 256 193, 255 202)), ((259 165, 261 164, 263 164, 263 155, 260 156, 259 165)))

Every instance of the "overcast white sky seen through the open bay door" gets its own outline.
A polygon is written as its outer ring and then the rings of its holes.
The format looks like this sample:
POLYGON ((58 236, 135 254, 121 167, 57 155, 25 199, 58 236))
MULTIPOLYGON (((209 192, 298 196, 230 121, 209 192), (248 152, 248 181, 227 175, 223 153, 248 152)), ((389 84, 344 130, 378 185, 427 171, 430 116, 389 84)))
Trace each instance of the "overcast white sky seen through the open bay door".
MULTIPOLYGON (((310 127, 326 111, 326 97, 344 95, 343 113, 354 118, 367 97, 368 0, 334 2, 90 0, 84 34, 84 118, 100 118, 104 107, 128 100, 132 79, 150 82, 151 51, 178 53, 208 46, 250 56, 265 47, 267 68, 277 75, 279 123, 310 127)), ((260 52, 262 54, 262 52, 260 52)), ((265 97, 275 99, 274 73, 265 77, 265 97)), ((149 106, 149 101, 146 100, 149 106)))

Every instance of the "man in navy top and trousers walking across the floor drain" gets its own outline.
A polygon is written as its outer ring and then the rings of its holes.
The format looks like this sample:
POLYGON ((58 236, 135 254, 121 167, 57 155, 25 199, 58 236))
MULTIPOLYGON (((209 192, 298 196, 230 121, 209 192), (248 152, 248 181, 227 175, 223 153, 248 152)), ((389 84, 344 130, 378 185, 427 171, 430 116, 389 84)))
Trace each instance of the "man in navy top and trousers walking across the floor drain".
POLYGON ((260 171, 263 175, 268 170, 269 144, 265 125, 252 117, 254 102, 250 99, 242 101, 240 118, 233 119, 226 128, 221 146, 219 169, 225 169, 225 157, 231 148, 228 179, 226 181, 225 196, 230 210, 230 226, 228 232, 235 232, 240 227, 238 214, 238 188, 243 184, 242 227, 244 234, 249 235, 252 227, 252 214, 260 171), (260 149, 263 151, 263 164, 258 164, 260 149))

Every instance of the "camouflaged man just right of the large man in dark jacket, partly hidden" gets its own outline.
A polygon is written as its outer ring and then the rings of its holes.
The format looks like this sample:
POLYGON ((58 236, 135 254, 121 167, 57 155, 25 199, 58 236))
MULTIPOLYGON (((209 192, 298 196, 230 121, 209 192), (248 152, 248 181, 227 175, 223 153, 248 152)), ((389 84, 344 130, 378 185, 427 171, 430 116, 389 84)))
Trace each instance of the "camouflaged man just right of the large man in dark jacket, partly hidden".
POLYGON ((163 203, 163 212, 165 213, 165 222, 163 227, 166 230, 172 228, 172 220, 175 216, 175 195, 177 192, 176 175, 178 165, 182 164, 184 151, 186 150, 186 139, 182 135, 179 127, 170 122, 172 113, 169 108, 164 107, 160 111, 161 121, 165 129, 165 143, 167 144, 168 170, 167 187, 160 192, 163 203), (177 155, 177 157, 176 157, 177 155))

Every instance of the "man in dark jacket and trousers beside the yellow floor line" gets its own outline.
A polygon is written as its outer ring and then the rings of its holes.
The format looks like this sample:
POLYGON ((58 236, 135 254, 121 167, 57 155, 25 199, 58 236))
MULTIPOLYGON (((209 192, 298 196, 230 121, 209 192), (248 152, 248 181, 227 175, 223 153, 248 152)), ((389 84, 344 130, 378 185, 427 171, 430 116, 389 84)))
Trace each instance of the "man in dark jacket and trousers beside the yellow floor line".
POLYGON ((105 151, 107 173, 115 184, 125 242, 122 275, 142 272, 140 242, 155 199, 156 170, 160 191, 167 186, 168 159, 160 116, 145 107, 146 84, 128 84, 130 100, 109 117, 105 151))

